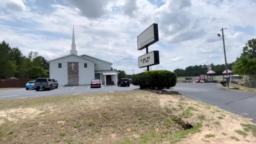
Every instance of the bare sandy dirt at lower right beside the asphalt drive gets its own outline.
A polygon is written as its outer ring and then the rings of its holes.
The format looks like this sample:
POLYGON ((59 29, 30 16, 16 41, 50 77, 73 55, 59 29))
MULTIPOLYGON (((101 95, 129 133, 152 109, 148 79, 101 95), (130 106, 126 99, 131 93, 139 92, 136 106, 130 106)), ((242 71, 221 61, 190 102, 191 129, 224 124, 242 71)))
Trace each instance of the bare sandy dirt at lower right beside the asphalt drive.
POLYGON ((193 111, 193 115, 189 118, 184 118, 184 120, 191 123, 199 120, 202 124, 201 132, 189 135, 187 139, 182 139, 178 144, 208 144, 209 142, 211 142, 211 144, 256 143, 256 133, 253 135, 253 133, 249 131, 244 131, 243 126, 241 125, 243 123, 254 125, 250 122, 250 119, 243 118, 240 115, 235 115, 200 101, 194 101, 192 99, 181 98, 181 96, 174 95, 171 97, 172 101, 170 102, 168 101, 167 96, 161 95, 159 97, 160 104, 162 103, 161 106, 176 107, 181 104, 182 101, 184 109, 189 109, 190 107, 191 111, 193 111), (163 103, 165 105, 163 105, 163 103), (248 134, 248 136, 238 134, 236 132, 237 130, 248 134), (205 137, 205 135, 209 134, 214 136, 205 137), (233 137, 236 139, 232 139, 233 137))

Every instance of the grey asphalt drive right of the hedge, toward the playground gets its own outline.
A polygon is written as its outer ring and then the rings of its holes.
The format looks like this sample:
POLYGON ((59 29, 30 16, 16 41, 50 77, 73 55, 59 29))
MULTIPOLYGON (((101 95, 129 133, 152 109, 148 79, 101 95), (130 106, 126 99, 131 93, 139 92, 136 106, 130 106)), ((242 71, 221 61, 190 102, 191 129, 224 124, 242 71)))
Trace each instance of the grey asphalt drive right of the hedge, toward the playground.
POLYGON ((256 123, 256 94, 229 91, 217 87, 216 83, 177 83, 171 91, 184 96, 213 104, 235 114, 253 119, 256 123))

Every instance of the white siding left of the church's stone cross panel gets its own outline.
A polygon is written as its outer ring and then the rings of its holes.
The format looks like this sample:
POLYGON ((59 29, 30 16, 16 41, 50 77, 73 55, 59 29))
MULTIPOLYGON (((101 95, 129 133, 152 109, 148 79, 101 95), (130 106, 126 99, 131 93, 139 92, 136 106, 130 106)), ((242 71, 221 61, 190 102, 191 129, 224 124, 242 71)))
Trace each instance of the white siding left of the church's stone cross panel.
POLYGON ((58 80, 59 86, 67 85, 67 62, 50 62, 49 64, 50 78, 58 80), (59 68, 58 64, 62 67, 59 68))

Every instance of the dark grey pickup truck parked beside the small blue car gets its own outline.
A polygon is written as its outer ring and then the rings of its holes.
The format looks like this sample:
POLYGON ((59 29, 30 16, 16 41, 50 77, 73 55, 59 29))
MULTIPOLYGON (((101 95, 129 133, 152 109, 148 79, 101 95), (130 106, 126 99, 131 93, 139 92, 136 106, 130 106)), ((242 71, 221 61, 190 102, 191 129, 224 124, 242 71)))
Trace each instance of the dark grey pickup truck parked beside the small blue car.
POLYGON ((34 87, 36 91, 39 91, 40 88, 48 89, 51 91, 52 88, 58 88, 58 80, 50 79, 50 78, 37 78, 35 80, 34 87))

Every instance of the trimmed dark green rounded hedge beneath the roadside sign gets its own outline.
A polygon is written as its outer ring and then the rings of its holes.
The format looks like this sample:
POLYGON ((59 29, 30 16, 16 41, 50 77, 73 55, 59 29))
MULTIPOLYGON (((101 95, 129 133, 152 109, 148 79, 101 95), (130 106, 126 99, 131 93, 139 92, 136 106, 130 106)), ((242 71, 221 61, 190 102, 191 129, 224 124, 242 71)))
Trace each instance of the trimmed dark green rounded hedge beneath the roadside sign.
POLYGON ((139 85, 140 88, 171 88, 176 85, 177 76, 174 72, 168 70, 152 70, 133 75, 133 85, 139 85))

